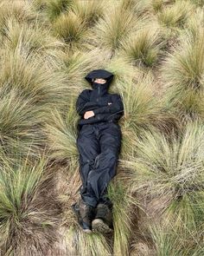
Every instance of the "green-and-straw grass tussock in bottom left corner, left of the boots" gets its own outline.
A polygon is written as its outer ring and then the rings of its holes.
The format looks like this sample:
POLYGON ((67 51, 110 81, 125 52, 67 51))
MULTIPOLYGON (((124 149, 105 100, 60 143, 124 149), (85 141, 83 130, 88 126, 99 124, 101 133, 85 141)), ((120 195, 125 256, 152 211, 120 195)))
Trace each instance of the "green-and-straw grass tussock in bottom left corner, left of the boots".
POLYGON ((3 158, 0 176, 1 253, 21 255, 35 248, 35 253, 43 255, 56 239, 58 223, 59 211, 54 194, 48 194, 48 189, 54 186, 52 176, 45 174, 46 159, 41 158, 32 166, 27 161, 18 161, 21 165, 13 166, 3 158))

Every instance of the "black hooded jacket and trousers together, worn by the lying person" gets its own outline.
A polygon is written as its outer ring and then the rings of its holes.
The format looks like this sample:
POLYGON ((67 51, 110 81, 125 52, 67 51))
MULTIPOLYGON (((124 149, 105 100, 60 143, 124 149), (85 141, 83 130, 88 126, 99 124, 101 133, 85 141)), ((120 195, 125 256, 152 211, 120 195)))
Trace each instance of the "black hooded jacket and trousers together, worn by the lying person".
POLYGON ((118 154, 121 148, 122 133, 118 120, 124 115, 124 105, 118 94, 109 94, 112 73, 97 69, 86 75, 92 90, 83 90, 76 102, 81 116, 78 122, 77 147, 80 152, 81 198, 90 206, 99 202, 112 206, 106 197, 109 181, 116 174, 118 154), (106 82, 92 82, 92 78, 104 78, 106 82), (108 105, 108 102, 112 102, 108 105), (94 116, 84 119, 86 111, 94 116))

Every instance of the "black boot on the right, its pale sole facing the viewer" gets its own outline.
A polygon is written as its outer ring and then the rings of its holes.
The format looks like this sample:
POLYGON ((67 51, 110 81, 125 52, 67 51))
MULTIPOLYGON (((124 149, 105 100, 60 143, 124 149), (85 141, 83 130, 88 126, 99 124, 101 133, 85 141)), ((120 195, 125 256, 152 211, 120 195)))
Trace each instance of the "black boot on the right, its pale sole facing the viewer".
POLYGON ((96 215, 92 220, 92 231, 99 233, 112 233, 112 208, 99 203, 96 208, 96 215))

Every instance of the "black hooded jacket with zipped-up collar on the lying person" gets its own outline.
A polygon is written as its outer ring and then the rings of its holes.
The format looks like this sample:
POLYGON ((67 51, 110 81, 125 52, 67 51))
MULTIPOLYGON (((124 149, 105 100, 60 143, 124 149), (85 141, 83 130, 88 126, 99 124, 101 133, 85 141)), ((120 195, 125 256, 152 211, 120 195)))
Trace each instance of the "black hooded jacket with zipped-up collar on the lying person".
POLYGON ((76 101, 76 110, 80 115, 78 128, 87 123, 101 121, 118 122, 122 115, 124 115, 124 105, 120 95, 108 93, 113 74, 104 69, 95 69, 87 74, 85 79, 90 82, 92 89, 84 89, 76 101), (106 82, 99 84, 92 82, 92 78, 104 78, 106 82), (108 105, 108 102, 112 102, 112 104, 108 105), (94 112, 94 116, 84 119, 83 115, 89 110, 94 112))

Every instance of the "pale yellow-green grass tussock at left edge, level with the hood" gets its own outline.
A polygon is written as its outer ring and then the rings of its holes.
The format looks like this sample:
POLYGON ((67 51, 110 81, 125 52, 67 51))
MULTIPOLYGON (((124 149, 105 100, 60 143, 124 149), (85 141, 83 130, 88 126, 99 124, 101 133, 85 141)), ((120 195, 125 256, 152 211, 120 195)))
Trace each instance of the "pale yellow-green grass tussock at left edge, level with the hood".
POLYGON ((56 69, 50 69, 48 64, 45 59, 30 55, 23 46, 14 51, 6 49, 0 63, 1 85, 7 84, 8 90, 17 89, 33 104, 52 104, 60 99, 65 78, 56 69))

